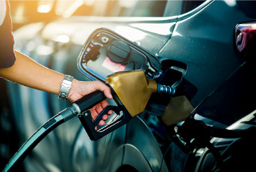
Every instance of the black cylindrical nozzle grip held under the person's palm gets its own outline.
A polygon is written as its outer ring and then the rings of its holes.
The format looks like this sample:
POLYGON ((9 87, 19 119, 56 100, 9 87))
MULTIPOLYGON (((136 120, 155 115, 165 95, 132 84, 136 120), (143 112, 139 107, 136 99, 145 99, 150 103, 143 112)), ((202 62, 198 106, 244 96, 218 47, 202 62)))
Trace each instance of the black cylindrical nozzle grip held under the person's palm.
POLYGON ((97 105, 105 99, 106 97, 104 96, 104 93, 98 90, 87 94, 79 100, 76 100, 74 104, 76 104, 80 108, 80 113, 83 113, 84 111, 91 109, 91 107, 97 105))

